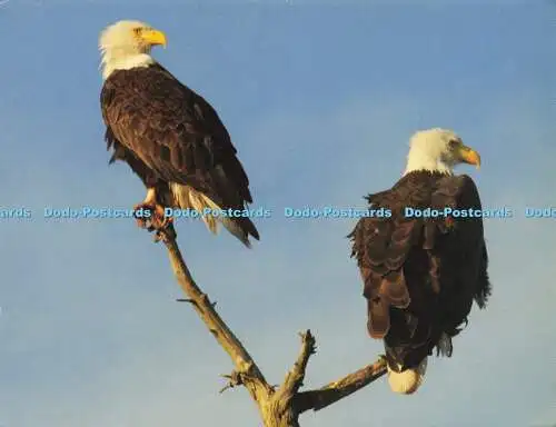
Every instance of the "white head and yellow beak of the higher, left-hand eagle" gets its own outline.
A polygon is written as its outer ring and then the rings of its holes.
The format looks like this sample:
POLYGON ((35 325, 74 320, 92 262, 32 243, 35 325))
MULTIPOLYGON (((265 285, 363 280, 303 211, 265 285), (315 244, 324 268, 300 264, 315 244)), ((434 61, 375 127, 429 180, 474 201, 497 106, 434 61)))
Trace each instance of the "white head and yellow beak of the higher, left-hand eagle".
POLYGON ((100 33, 102 78, 115 70, 129 70, 155 63, 150 56, 153 46, 166 47, 166 34, 140 21, 118 21, 100 33))

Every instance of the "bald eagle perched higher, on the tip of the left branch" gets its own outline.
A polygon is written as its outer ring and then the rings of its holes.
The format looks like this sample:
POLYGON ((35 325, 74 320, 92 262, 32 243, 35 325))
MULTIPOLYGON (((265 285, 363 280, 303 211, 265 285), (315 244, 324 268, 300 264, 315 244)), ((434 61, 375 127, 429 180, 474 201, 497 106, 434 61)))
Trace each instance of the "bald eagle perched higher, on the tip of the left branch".
POLYGON ((152 228, 169 226, 166 207, 191 209, 210 231, 220 221, 249 247, 249 236, 259 234, 247 216, 212 215, 245 212, 252 202, 249 179, 215 109, 150 56, 166 42, 163 32, 139 21, 119 21, 100 34, 109 163, 125 161, 140 177, 147 197, 135 208, 152 212, 152 228))

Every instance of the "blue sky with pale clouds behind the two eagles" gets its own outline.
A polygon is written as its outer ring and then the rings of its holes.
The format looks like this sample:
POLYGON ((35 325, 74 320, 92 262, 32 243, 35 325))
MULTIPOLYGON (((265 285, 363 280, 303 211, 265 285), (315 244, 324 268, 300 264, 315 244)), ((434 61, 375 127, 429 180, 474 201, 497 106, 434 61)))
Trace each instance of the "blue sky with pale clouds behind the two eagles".
POLYGON ((529 427, 556 420, 556 227, 524 219, 554 206, 556 6, 296 6, 262 1, 18 2, 0 7, 2 220, 0 425, 259 425, 245 390, 181 297, 162 247, 130 220, 56 221, 44 206, 131 207, 145 196, 108 167, 97 39, 140 19, 169 39, 156 58, 219 111, 251 179, 260 244, 244 249, 178 224, 193 275, 267 378, 280 383, 297 331, 318 340, 307 386, 370 363, 365 300, 345 236, 355 219, 289 220, 285 206, 357 206, 391 186, 407 140, 448 127, 483 157, 494 295, 471 312, 451 359, 434 359, 411 397, 385 381, 304 427, 529 427))

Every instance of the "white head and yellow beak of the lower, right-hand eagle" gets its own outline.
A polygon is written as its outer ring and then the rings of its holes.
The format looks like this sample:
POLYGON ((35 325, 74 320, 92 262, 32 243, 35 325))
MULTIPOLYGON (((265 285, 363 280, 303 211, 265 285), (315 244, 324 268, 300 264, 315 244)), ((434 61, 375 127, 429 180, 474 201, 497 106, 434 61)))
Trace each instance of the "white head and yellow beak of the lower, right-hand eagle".
POLYGON ((458 163, 480 167, 480 156, 474 149, 464 146, 453 130, 427 129, 414 133, 409 141, 409 153, 404 175, 417 170, 428 170, 443 173, 453 173, 458 163))

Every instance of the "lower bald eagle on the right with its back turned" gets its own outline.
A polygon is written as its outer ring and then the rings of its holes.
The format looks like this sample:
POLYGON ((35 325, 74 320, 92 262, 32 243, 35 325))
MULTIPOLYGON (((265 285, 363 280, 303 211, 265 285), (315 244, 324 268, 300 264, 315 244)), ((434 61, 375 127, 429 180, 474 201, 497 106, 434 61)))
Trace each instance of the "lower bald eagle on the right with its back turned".
POLYGON ((406 215, 406 207, 423 214, 481 209, 471 178, 453 172, 460 162, 479 168, 480 157, 454 131, 416 132, 401 179, 366 198, 390 216, 361 218, 348 236, 364 281, 367 329, 384 340, 395 393, 418 389, 434 349, 451 356, 451 338, 467 325, 473 301, 485 308, 490 295, 480 217, 406 215))

